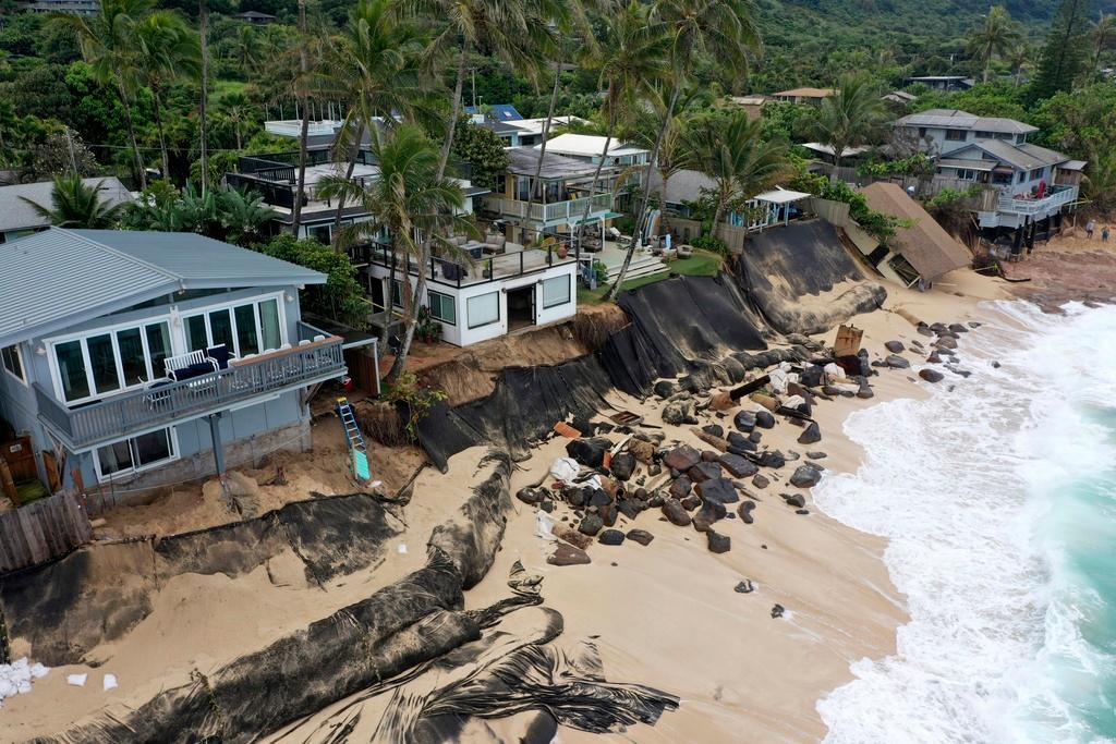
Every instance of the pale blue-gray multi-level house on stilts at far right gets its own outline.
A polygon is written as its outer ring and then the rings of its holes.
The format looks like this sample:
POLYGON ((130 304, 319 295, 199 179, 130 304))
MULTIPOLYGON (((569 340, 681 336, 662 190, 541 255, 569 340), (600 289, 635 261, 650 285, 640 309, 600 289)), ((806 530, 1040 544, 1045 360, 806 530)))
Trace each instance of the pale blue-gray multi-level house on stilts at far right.
POLYGON ((935 158, 940 187, 980 186, 973 200, 981 228, 1049 225, 1079 195, 1085 163, 1027 142, 1022 122, 931 109, 895 122, 896 138, 935 158))

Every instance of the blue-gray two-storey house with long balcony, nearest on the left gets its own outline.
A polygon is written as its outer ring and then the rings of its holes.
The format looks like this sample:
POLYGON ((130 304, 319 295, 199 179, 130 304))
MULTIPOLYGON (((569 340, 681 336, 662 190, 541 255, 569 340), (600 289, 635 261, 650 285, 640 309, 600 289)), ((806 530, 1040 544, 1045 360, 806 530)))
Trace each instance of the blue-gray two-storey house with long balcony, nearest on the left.
POLYGON ((305 450, 310 395, 346 375, 341 338, 299 310, 325 281, 193 233, 22 238, 0 251, 0 417, 51 492, 305 450))

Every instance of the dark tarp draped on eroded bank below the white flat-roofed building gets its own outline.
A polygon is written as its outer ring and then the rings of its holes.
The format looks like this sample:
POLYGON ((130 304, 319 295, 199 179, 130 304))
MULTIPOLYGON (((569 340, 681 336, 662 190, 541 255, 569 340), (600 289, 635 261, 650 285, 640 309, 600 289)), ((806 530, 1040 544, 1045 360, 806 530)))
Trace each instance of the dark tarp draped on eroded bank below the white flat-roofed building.
POLYGON ((440 470, 469 447, 491 444, 521 454, 567 416, 591 417, 606 407, 608 375, 591 355, 560 365, 507 367, 488 396, 437 405, 419 423, 419 441, 440 470))

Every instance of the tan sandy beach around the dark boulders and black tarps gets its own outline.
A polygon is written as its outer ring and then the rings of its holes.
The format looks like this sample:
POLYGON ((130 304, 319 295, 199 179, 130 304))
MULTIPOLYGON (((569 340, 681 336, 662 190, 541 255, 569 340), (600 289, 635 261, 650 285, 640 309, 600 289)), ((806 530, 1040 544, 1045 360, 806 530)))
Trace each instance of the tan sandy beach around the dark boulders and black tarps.
MULTIPOLYGON (((913 342, 927 341, 915 330, 917 320, 979 320, 978 303, 1004 297, 1006 284, 962 271, 946 277, 932 292, 894 287, 888 292, 883 309, 852 320, 864 330, 863 346, 873 359, 887 354, 884 341, 899 340, 908 349, 913 342)), ((831 344, 831 336, 817 340, 831 344)), ((917 367, 925 354, 905 356, 917 367)), ((797 444, 801 429, 780 421, 764 432, 764 445, 790 457, 795 456, 790 453, 805 457, 806 451, 820 451, 826 456, 817 462, 827 472, 855 472, 860 453, 843 434, 844 418, 883 400, 925 395, 927 385, 912 369, 888 368, 879 368, 872 384, 872 399, 818 402, 815 421, 822 434, 820 442, 797 444)), ((662 402, 654 398, 638 400, 615 393, 608 404, 661 425, 662 402)), ((744 404, 756 406, 747 399, 744 404)), ((699 419, 728 427, 733 413, 703 410, 699 419)), ((690 426, 662 425, 658 431, 664 446, 679 442, 708 448, 690 426)), ((565 454, 568 442, 554 437, 532 450, 528 460, 518 463, 511 492, 549 482, 547 468, 565 454)), ((209 674, 420 568, 432 526, 487 475, 488 468, 479 465, 483 455, 482 448, 470 448, 452 457, 445 474, 422 471, 411 502, 389 510, 396 534, 363 570, 314 586, 307 582, 298 557, 283 551, 238 577, 186 573, 170 578, 155 592, 151 612, 123 638, 93 649, 87 655, 90 664, 52 669, 36 683, 32 694, 6 702, 0 711, 0 738, 23 741, 55 734, 106 711, 124 715, 160 689, 186 684, 193 670, 209 674), (89 682, 85 687, 67 685, 70 674, 88 674, 89 682), (104 674, 116 675, 121 686, 103 692, 104 674)), ((652 509, 634 520, 622 515, 616 525, 625 531, 646 530, 654 535, 648 545, 631 540, 619 547, 595 543, 587 549, 591 563, 550 566, 547 555, 554 544, 536 537, 535 509, 513 501, 502 549, 488 576, 465 593, 466 609, 507 597, 509 571, 521 561, 529 572, 542 577, 545 607, 564 618, 560 644, 591 639, 610 682, 646 685, 681 698, 679 709, 665 713, 657 725, 604 735, 607 741, 730 742, 742 736, 753 742, 819 741, 826 728, 816 711, 817 700, 850 679, 853 661, 893 653, 895 628, 906 616, 904 597, 892 586, 881 560, 885 548, 881 538, 829 519, 806 493, 808 514, 796 513, 780 499, 780 493, 801 491, 786 482, 795 465, 788 462, 775 472, 766 489, 750 489, 757 502, 752 524, 739 518, 718 523, 716 529, 732 541, 732 549, 722 554, 711 553, 700 532, 675 526, 652 509), (743 580, 753 582, 754 591, 734 591, 743 580), (779 618, 772 617, 776 605, 786 610, 779 618)), ((648 477, 647 483, 657 480, 648 477)), ((566 505, 559 505, 554 518, 559 524, 576 524, 566 505)), ((133 568, 126 552, 115 551, 104 560, 98 567, 104 577, 114 571, 126 576, 133 568)), ((532 618, 538 619, 536 612, 520 610, 502 626, 529 627, 532 618)), ((17 656, 31 650, 33 656, 33 649, 18 645, 13 650, 17 656)), ((331 715, 350 714, 354 706, 365 715, 353 735, 371 734, 384 705, 383 696, 343 702, 288 727, 272 741, 325 741, 331 715), (321 728, 324 722, 327 725, 321 728)), ((481 722, 466 733, 477 741, 507 741, 521 733, 530 718, 519 715, 481 722)), ((562 728, 560 738, 602 737, 562 728)))

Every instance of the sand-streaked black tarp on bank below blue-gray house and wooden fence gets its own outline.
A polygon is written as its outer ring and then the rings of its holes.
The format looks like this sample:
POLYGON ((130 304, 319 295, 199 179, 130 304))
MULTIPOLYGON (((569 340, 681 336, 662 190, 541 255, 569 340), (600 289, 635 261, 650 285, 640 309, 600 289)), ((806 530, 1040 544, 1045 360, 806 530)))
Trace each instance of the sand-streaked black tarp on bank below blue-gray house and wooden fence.
POLYGON ((397 534, 384 506, 364 494, 323 496, 261 516, 157 542, 98 544, 0 578, 0 605, 12 638, 36 660, 77 664, 151 612, 152 597, 175 576, 249 573, 283 550, 302 561, 308 582, 372 564, 397 534))

